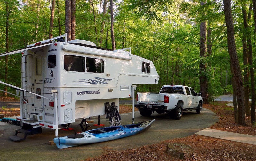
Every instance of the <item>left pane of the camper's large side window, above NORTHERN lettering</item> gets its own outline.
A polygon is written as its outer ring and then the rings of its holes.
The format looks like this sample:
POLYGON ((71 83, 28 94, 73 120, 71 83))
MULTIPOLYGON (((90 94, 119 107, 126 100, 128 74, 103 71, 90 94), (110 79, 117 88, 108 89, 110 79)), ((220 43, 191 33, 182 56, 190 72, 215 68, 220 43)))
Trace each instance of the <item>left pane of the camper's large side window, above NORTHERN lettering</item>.
POLYGON ((64 69, 66 71, 79 71, 85 72, 84 70, 84 57, 74 55, 64 55, 64 69))

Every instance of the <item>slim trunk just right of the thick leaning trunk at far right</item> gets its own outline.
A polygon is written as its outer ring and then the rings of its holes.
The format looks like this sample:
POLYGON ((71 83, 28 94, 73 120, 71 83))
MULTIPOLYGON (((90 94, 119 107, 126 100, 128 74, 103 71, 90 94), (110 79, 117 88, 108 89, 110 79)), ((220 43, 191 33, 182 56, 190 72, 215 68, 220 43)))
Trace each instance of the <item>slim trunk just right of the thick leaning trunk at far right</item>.
POLYGON ((243 62, 244 62, 244 105, 245 105, 245 113, 246 115, 250 115, 250 104, 249 104, 249 70, 248 70, 248 54, 247 54, 247 33, 246 30, 248 29, 247 25, 247 13, 246 8, 241 0, 242 4, 242 13, 243 13, 243 20, 244 20, 244 31, 242 37, 242 44, 243 44, 243 62))

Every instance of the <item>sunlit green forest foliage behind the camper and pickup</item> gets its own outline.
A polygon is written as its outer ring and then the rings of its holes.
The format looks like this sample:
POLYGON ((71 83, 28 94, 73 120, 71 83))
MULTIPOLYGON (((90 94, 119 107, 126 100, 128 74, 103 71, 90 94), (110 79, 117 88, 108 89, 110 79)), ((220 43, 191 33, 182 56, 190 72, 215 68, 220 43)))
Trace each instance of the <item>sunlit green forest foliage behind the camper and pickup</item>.
MULTIPOLYGON (((9 15, 9 51, 48 38, 51 1, 31 0, 27 4, 27 1, 3 0, 0 1, 1 52, 6 51, 5 2, 8 2, 12 9, 9 15)), ((99 0, 76 0, 76 39, 88 40, 97 46, 112 48, 109 3, 105 17, 101 13, 102 8, 99 8, 100 3, 99 0), (101 33, 103 21, 103 33, 101 33), (99 41, 101 37, 102 43, 99 41)), ((221 1, 208 0, 204 6, 200 6, 199 1, 181 0, 121 0, 114 3, 116 48, 131 47, 132 54, 151 60, 160 76, 158 84, 140 84, 137 85, 137 91, 159 92, 162 85, 180 84, 191 86, 199 92, 199 63, 204 61, 207 64, 204 75, 210 80, 208 87, 210 97, 214 98, 224 91, 232 92, 226 26, 221 1), (205 15, 201 14, 202 11, 205 15), (200 58, 199 25, 201 21, 206 20, 208 28, 212 31, 212 55, 200 58)), ((248 7, 249 3, 246 6, 248 7)), ((243 23, 240 1, 234 1, 232 9, 237 53, 242 67, 243 23)), ((53 36, 59 33, 58 18, 61 33, 64 34, 64 0, 58 0, 58 6, 56 4, 53 36)), ((249 21, 250 26, 253 25, 252 20, 253 18, 249 21)), ((254 34, 253 28, 248 33, 254 34)), ((252 43, 255 50, 255 43, 252 43)), ((8 60, 7 83, 20 86, 20 54, 9 55, 8 60)), ((255 61, 254 54, 253 62, 255 61)), ((5 60, 4 57, 0 57, 2 81, 4 81, 4 73, 5 60)), ((3 89, 3 85, 0 85, 0 88, 3 89)))

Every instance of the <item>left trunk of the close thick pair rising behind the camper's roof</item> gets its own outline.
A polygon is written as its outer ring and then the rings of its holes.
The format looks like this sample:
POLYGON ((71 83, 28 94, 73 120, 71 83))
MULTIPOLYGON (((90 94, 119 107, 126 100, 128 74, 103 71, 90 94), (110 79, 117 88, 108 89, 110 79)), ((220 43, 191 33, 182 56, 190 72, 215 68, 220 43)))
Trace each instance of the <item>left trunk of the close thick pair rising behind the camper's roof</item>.
POLYGON ((65 1, 65 32, 67 33, 67 41, 71 39, 71 0, 65 1))

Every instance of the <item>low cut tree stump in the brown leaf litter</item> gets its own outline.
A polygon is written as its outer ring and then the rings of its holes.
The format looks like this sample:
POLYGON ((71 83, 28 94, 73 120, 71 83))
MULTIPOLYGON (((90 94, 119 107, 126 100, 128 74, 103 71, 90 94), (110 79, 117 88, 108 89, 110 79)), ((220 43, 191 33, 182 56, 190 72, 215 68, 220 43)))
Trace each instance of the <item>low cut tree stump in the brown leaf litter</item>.
POLYGON ((166 146, 166 152, 177 159, 196 160, 192 148, 188 145, 174 143, 166 146))

